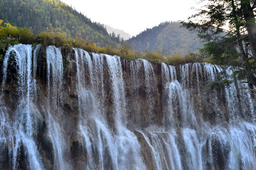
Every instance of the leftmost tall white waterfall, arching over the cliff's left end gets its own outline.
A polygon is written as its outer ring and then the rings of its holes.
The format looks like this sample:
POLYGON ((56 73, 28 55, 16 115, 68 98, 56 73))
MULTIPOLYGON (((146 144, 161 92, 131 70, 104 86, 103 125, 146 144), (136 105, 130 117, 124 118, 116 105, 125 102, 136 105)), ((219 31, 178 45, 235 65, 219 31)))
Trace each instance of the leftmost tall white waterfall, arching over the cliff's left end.
POLYGON ((35 128, 41 116, 30 98, 33 83, 32 46, 19 44, 9 47, 3 66, 2 90, 8 86, 6 85, 7 75, 12 74, 8 72, 8 66, 14 67, 17 71, 15 78, 18 82, 16 93, 19 95, 18 106, 13 113, 14 118, 9 118, 5 108, 1 110, 1 127, 4 126, 1 129, 1 139, 8 139, 8 142, 7 140, 4 142, 11 148, 9 149, 9 159, 12 162, 10 169, 29 169, 30 167, 30 169, 42 170, 44 166, 35 143, 35 128), (5 128, 8 133, 5 132, 5 128))

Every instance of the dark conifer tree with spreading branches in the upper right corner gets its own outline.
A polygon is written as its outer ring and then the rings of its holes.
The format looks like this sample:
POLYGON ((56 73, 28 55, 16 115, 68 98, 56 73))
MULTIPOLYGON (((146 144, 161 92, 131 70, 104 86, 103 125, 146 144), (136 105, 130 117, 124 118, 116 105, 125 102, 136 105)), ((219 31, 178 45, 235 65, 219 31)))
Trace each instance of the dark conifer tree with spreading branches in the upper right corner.
POLYGON ((205 42, 203 51, 222 61, 243 69, 235 79, 247 78, 256 86, 256 0, 201 0, 204 9, 181 21, 183 27, 196 30, 205 42))

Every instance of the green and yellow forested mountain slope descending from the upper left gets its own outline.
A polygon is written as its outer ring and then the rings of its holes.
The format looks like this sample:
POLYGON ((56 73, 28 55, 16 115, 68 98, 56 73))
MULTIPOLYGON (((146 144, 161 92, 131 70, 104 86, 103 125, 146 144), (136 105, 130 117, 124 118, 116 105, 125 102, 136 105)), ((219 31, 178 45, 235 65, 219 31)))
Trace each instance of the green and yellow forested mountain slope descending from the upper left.
POLYGON ((0 19, 13 26, 27 27, 34 34, 54 32, 66 37, 83 38, 98 46, 116 47, 104 25, 92 22, 60 0, 0 0, 0 19))

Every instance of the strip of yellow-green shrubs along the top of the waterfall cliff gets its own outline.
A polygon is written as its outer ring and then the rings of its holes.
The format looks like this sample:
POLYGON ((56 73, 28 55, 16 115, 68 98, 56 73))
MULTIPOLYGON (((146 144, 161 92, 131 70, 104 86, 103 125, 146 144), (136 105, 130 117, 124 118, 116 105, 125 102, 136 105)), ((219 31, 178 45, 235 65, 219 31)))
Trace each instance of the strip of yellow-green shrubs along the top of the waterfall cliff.
POLYGON ((88 52, 117 55, 129 60, 142 58, 156 63, 165 62, 170 65, 203 61, 203 58, 200 55, 194 53, 186 54, 184 57, 179 55, 165 57, 162 54, 152 51, 142 54, 141 52, 132 50, 131 45, 128 43, 124 43, 123 45, 120 44, 118 49, 112 48, 109 45, 105 47, 99 47, 96 45, 96 43, 78 38, 77 36, 75 38, 66 38, 65 34, 61 34, 60 32, 55 33, 54 31, 42 32, 38 35, 34 35, 30 33, 27 28, 11 26, 9 23, 1 22, 1 20, 0 23, 4 25, 0 26, 0 61, 3 59, 9 44, 15 45, 18 43, 41 43, 44 46, 55 45, 70 51, 73 47, 76 47, 84 49, 88 52))

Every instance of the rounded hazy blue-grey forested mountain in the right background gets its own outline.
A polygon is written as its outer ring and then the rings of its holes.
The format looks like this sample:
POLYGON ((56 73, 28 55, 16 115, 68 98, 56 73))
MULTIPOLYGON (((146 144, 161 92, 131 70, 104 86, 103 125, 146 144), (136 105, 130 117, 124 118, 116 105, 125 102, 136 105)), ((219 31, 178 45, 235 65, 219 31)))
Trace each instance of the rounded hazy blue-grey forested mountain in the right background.
POLYGON ((147 28, 128 42, 137 51, 155 51, 163 55, 184 55, 198 51, 202 44, 197 35, 180 26, 179 22, 164 22, 147 28))

